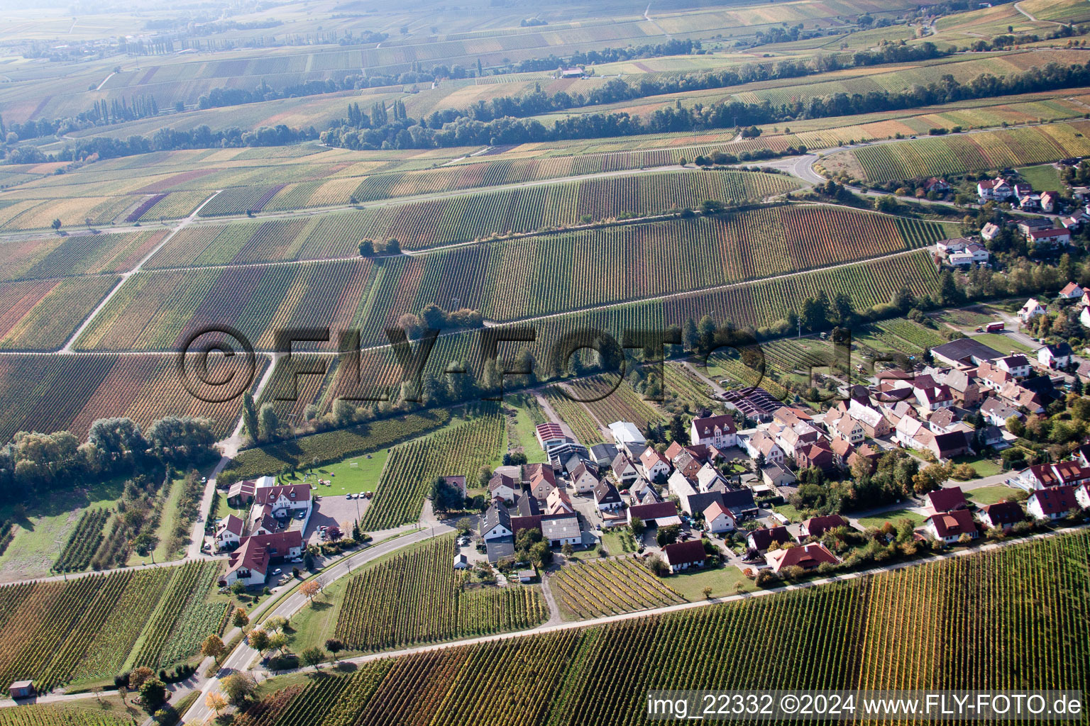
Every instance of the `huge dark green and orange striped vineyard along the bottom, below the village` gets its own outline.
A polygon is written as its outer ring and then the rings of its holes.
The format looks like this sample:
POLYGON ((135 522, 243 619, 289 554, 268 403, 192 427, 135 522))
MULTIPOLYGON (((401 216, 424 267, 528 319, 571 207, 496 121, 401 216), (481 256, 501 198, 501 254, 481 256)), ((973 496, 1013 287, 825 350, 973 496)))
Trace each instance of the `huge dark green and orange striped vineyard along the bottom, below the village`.
POLYGON ((311 685, 287 707, 305 702, 308 723, 643 724, 646 692, 678 684, 989 689, 1045 678, 1077 690, 1090 678, 1073 616, 1088 605, 1088 546, 1090 534, 1078 532, 742 602, 417 653, 339 688, 311 685), (723 647, 739 640, 747 647, 723 647), (1064 666, 1042 653, 1063 654, 1064 666), (334 710, 352 721, 323 722, 334 710))

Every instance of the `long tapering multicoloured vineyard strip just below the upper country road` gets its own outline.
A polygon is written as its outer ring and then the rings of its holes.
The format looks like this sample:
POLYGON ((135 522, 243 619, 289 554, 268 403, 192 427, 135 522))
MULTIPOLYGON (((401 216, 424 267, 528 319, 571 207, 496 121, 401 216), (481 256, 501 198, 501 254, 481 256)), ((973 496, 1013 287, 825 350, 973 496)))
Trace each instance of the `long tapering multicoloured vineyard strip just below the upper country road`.
POLYGON ((786 175, 673 172, 373 206, 310 219, 202 224, 171 238, 148 268, 353 257, 363 238, 382 243, 392 237, 402 248, 423 249, 582 224, 584 216, 602 222, 695 208, 705 199, 756 201, 797 188, 786 175))

